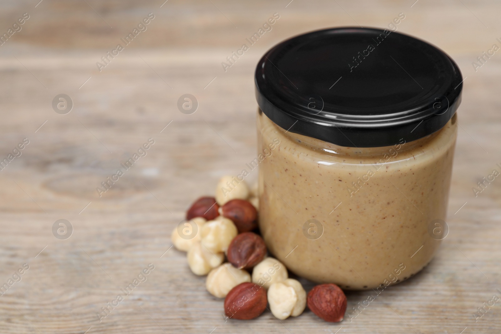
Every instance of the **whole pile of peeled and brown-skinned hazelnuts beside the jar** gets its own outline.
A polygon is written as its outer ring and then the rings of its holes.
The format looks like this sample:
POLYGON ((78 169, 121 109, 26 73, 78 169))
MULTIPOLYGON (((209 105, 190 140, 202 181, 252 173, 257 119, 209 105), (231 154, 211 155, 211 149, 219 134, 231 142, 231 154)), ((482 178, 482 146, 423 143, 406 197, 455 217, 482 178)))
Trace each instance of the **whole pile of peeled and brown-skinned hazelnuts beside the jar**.
POLYGON ((320 284, 307 295, 298 280, 289 278, 283 263, 267 256, 258 209, 257 186, 249 189, 245 181, 224 176, 215 197, 201 197, 190 206, 186 220, 172 231, 172 243, 187 252, 194 274, 207 275, 207 291, 224 298, 229 318, 254 319, 269 304, 273 315, 283 320, 300 315, 308 304, 326 321, 343 320, 347 301, 339 286, 320 284))

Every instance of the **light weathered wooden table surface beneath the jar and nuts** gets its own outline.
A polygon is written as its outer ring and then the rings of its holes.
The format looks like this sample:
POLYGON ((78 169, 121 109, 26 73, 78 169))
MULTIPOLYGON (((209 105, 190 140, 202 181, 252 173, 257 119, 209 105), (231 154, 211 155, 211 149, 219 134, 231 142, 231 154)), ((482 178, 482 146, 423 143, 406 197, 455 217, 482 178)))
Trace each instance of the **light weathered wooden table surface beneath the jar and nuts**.
MULTIPOLYGON (((500 302, 473 316, 501 296, 501 181, 477 197, 472 191, 501 163, 501 55, 476 72, 471 65, 492 44, 501 46, 499 3, 38 1, 0 4, 0 32, 30 15, 0 46, 0 157, 29 140, 0 171, 0 283, 29 266, 0 296, 0 333, 501 332, 500 302), (148 13, 155 18, 147 30, 99 72, 96 62, 148 13), (273 30, 224 72, 221 62, 274 13, 273 30), (193 199, 255 157, 255 64, 287 37, 385 27, 399 13, 398 31, 441 47, 467 77, 449 235, 421 273, 385 290, 352 322, 327 323, 308 310, 284 321, 269 311, 225 321, 222 301, 191 274, 185 254, 170 248, 170 232, 193 199), (187 93, 199 103, 191 115, 176 106, 187 93), (53 110, 58 94, 71 97, 70 113, 53 110), (155 142, 147 155, 99 197, 96 187, 148 138, 155 142), (71 223, 70 238, 54 236, 59 219, 71 223), (101 307, 149 263, 147 280, 100 322, 101 307)), ((348 312, 367 294, 347 292, 348 312)))

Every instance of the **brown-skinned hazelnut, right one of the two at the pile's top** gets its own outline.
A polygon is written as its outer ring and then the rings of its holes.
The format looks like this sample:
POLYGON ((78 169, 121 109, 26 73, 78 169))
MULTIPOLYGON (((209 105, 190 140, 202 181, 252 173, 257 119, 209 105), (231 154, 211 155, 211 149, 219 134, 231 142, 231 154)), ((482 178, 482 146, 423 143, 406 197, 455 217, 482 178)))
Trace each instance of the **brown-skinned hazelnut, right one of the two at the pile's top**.
POLYGON ((232 199, 219 208, 219 213, 231 219, 238 233, 252 231, 258 226, 258 211, 252 203, 243 199, 232 199))

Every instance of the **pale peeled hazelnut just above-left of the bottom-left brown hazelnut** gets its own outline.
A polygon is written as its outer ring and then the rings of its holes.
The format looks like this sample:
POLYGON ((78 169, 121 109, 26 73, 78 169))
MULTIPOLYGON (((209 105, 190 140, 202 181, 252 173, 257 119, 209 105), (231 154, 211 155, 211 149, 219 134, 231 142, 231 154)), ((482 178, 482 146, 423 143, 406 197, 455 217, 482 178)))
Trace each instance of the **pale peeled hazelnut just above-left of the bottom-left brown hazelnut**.
POLYGON ((205 287, 213 296, 224 298, 229 290, 243 282, 250 282, 249 273, 226 262, 209 272, 205 287))

